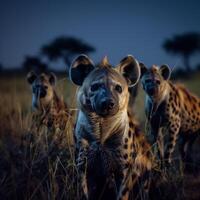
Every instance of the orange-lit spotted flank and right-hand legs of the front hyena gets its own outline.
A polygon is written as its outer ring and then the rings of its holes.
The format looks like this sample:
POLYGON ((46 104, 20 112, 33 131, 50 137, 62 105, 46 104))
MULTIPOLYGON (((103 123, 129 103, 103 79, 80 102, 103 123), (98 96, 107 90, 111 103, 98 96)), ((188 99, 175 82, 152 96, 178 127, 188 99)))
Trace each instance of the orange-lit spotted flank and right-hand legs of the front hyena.
POLYGON ((148 198, 153 158, 151 146, 147 142, 144 134, 138 128, 138 124, 134 117, 128 113, 128 118, 129 130, 123 137, 124 170, 119 199, 129 199, 129 192, 136 184, 138 184, 139 179, 142 177, 145 177, 142 192, 145 193, 143 194, 144 197, 148 198))

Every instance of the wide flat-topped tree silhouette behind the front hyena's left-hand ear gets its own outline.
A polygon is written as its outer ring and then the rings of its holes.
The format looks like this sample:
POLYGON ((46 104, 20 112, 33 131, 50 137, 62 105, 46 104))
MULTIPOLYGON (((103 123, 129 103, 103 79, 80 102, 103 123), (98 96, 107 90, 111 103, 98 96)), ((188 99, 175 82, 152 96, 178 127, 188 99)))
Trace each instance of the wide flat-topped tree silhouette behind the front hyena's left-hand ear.
POLYGON ((50 61, 63 59, 68 69, 74 56, 94 51, 94 47, 82 40, 64 36, 56 38, 41 48, 42 54, 47 56, 50 61))

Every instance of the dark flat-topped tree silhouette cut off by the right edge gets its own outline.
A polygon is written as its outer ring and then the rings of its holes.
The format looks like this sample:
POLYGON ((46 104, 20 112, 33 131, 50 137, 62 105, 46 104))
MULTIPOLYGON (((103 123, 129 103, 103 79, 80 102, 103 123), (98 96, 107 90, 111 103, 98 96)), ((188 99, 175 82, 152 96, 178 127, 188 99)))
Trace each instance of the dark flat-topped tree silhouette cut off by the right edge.
POLYGON ((186 70, 190 71, 190 57, 200 50, 200 34, 185 33, 183 35, 175 35, 172 39, 167 39, 163 43, 163 48, 167 52, 182 55, 186 70))

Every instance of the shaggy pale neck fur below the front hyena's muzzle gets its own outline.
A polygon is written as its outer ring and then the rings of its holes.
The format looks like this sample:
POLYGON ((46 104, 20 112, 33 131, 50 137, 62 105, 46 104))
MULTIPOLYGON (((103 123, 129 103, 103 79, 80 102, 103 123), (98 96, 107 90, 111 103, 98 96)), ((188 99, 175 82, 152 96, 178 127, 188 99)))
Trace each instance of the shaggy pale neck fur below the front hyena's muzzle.
POLYGON ((113 135, 123 135, 128 132, 127 110, 107 118, 99 117, 95 113, 80 112, 81 117, 78 119, 78 123, 80 122, 81 127, 84 127, 87 133, 92 136, 92 140, 101 144, 104 144, 113 135))

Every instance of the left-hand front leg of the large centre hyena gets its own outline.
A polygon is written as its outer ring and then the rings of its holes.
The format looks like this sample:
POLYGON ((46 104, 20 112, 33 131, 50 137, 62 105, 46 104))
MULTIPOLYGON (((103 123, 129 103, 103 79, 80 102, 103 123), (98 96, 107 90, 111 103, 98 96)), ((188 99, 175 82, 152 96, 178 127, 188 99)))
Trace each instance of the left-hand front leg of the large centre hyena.
POLYGON ((78 156, 77 156, 77 170, 78 170, 78 177, 81 183, 81 189, 84 194, 84 197, 88 199, 88 186, 87 186, 87 147, 80 146, 78 148, 78 156))

